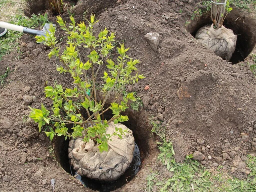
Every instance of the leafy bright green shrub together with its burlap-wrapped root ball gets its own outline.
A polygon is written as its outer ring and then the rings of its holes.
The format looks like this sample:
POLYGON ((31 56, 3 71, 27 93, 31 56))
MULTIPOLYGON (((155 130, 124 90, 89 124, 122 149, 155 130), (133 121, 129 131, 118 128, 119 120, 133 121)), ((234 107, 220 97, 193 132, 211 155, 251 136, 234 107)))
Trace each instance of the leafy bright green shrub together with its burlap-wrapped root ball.
POLYGON ((53 125, 51 130, 45 131, 50 140, 55 135, 71 139, 69 159, 78 174, 104 182, 113 181, 124 173, 133 158, 132 131, 119 122, 128 120, 128 116, 121 115, 121 112, 128 108, 129 100, 136 101, 133 93, 122 96, 125 87, 144 78, 135 73, 139 60, 126 54, 129 48, 124 44, 116 47, 118 56, 111 59, 115 35, 108 35, 105 28, 95 36, 93 26, 98 21, 94 20, 94 15, 87 26, 84 22, 76 24, 72 16, 69 25, 60 16, 57 19, 68 37, 62 53, 52 25, 46 37, 36 36, 36 39, 52 48, 49 58, 56 56, 61 61, 57 71, 70 73, 74 87, 63 89, 57 83, 45 87, 45 96, 53 101, 51 112, 42 104, 41 109, 30 108, 30 117, 38 122, 39 132, 42 126, 53 125), (87 61, 81 58, 81 49, 84 52, 84 49, 89 49, 87 61), (100 69, 105 71, 102 73, 100 69), (103 84, 96 82, 99 75, 103 84), (97 97, 99 93, 102 99, 97 97), (113 98, 110 106, 104 107, 110 97, 113 98), (110 109, 113 116, 106 120, 104 113, 110 109), (68 126, 72 127, 71 130, 68 126))

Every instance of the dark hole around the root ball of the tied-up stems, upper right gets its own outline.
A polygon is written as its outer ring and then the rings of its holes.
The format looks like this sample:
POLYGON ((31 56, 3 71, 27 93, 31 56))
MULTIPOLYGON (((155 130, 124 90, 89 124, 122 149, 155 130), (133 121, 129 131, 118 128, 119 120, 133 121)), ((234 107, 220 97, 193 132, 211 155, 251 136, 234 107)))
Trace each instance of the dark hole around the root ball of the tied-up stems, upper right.
MULTIPOLYGON (((199 28, 205 25, 211 25, 212 21, 210 13, 207 13, 200 18, 197 18, 186 27, 187 31, 195 36, 199 28)), ((251 17, 242 15, 239 9, 233 9, 228 13, 223 25, 226 28, 232 29, 237 35, 236 49, 230 59, 232 64, 244 61, 244 59, 251 53, 256 44, 256 21, 251 17)))

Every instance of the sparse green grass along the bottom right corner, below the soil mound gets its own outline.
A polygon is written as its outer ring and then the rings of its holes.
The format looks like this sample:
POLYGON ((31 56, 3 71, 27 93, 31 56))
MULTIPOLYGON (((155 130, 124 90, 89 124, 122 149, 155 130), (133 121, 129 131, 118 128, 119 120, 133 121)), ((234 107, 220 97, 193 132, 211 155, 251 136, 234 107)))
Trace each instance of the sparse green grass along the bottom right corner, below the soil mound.
MULTIPOLYGON (((153 122, 153 121, 151 121, 153 122)), ((153 132, 158 135, 161 125, 154 124, 153 132)), ((153 171, 146 177, 147 191, 196 191, 196 192, 243 192, 256 191, 256 157, 247 156, 247 166, 251 172, 246 179, 238 179, 230 176, 226 170, 219 166, 212 171, 193 160, 193 155, 187 155, 184 163, 177 163, 174 155, 175 151, 171 142, 166 141, 165 137, 158 143, 158 160, 166 166, 166 169, 173 174, 172 177, 165 177, 158 171, 153 171)))

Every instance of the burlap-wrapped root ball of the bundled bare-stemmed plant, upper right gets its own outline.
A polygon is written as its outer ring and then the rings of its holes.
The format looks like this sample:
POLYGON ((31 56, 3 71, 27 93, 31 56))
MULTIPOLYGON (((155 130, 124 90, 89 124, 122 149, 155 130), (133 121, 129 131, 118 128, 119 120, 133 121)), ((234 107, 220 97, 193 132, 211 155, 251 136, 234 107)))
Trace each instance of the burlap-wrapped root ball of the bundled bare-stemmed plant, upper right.
POLYGON ((237 35, 224 26, 219 29, 214 29, 213 24, 201 27, 195 38, 222 59, 230 60, 236 49, 237 35))

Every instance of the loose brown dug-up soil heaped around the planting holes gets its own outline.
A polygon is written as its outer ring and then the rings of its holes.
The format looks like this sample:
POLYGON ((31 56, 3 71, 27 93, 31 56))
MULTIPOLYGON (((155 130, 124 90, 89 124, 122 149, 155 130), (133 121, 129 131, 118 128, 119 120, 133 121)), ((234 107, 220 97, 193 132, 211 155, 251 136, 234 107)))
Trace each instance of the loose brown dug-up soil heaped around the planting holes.
MULTIPOLYGON (((131 123, 145 127, 145 141, 141 142, 146 146, 142 150, 144 160, 136 177, 116 191, 145 191, 145 177, 152 169, 168 175, 156 160, 155 137, 150 134, 149 123, 152 116, 166 127, 166 138, 173 142, 176 161, 182 162, 186 155, 198 151, 205 157, 200 158, 201 163, 208 168, 223 165, 240 178, 249 174, 244 161, 247 154, 255 154, 256 147, 256 79, 247 64, 251 58, 232 65, 197 43, 189 33, 195 21, 190 26, 185 26, 185 22, 198 1, 101 2, 81 1, 82 10, 79 4, 74 7, 76 22, 85 18, 84 11, 87 17, 95 13, 100 20, 96 31, 104 27, 114 31, 120 42, 131 47, 129 55, 140 59, 137 68, 146 77, 127 89, 136 91, 143 100, 140 112, 130 109, 127 113, 133 119, 131 123), (157 51, 144 37, 149 32, 159 33, 157 51), (145 90, 146 86, 149 89, 145 90)), ((62 17, 66 20, 68 14, 62 17)), ((255 16, 241 13, 241 17, 244 25, 255 31, 255 16)), ((49 20, 56 24, 54 15, 49 20)), ((59 28, 57 33, 59 39, 64 35, 59 28)), ((33 36, 24 35, 19 44, 20 57, 13 51, 0 61, 1 74, 6 67, 11 71, 0 87, 1 191, 92 191, 65 172, 55 160, 49 139, 44 133, 39 134, 37 124, 28 118, 27 105, 39 108, 43 103, 50 109, 51 101, 43 93, 46 83, 53 85, 57 81, 72 87, 72 79, 68 74, 58 74, 59 61, 49 60, 49 48, 36 44, 33 36)), ((63 41, 61 45, 65 46, 63 41)), ((255 43, 251 46, 255 51, 254 46, 255 43)), ((142 131, 136 134, 137 142, 142 131)), ((195 155, 201 155, 198 152, 195 155)))

